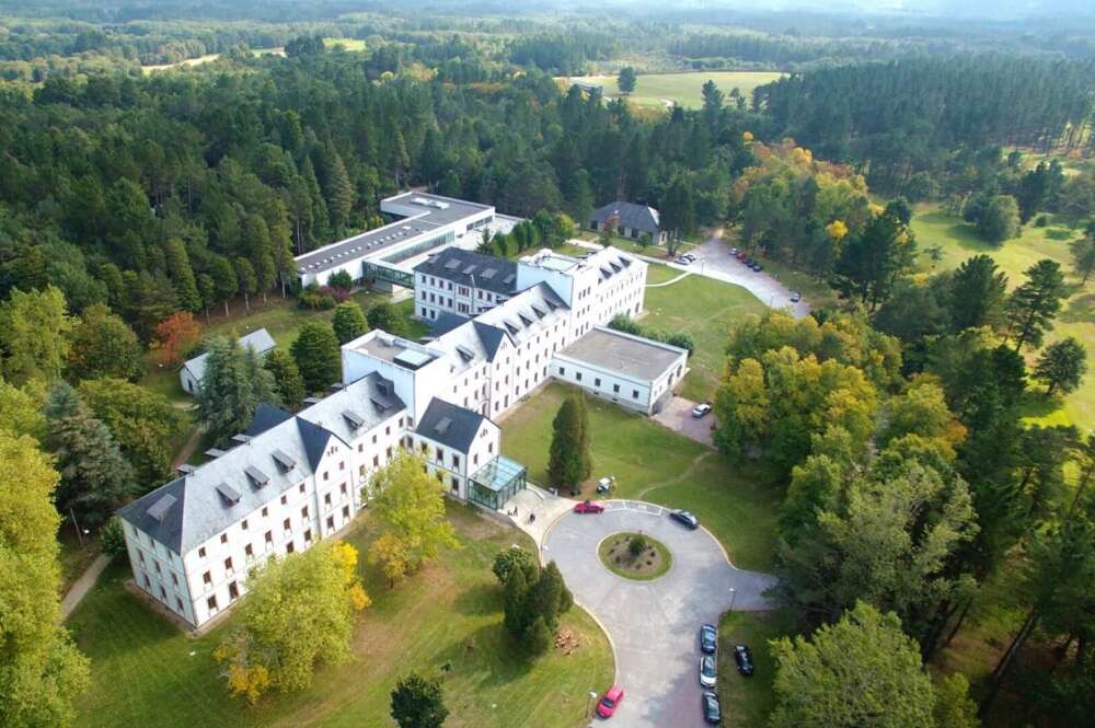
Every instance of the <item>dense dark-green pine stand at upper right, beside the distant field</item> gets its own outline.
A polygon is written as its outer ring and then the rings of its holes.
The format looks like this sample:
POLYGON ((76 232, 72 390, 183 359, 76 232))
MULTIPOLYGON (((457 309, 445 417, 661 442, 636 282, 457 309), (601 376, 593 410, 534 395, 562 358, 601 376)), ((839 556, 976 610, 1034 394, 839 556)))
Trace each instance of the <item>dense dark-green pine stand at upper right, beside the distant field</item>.
POLYGON ((902 190, 957 150, 992 145, 1095 148, 1095 59, 966 55, 794 74, 754 91, 784 136, 854 162, 873 187, 902 190))

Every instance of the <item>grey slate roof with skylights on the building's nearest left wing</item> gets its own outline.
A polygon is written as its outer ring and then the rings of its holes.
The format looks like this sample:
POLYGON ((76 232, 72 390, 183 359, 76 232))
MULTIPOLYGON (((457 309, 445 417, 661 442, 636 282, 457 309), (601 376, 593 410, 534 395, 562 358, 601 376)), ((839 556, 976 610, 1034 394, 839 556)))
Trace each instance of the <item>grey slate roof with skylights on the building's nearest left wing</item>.
POLYGON ((118 516, 176 554, 186 554, 312 475, 333 439, 349 447, 357 435, 343 413, 362 423, 360 434, 403 411, 391 382, 377 372, 296 416, 260 405, 249 442, 124 506, 118 516), (293 465, 287 469, 284 462, 293 465), (256 482, 256 473, 266 476, 265 485, 256 482), (162 510, 159 518, 157 510, 162 510))

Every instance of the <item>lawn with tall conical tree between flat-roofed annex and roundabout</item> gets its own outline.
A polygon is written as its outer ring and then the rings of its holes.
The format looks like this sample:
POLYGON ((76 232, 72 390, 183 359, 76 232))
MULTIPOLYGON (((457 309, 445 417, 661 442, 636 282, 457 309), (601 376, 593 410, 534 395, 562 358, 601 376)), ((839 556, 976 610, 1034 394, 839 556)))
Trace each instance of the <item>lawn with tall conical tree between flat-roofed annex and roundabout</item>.
MULTIPOLYGON (((551 423, 570 388, 552 383, 502 420, 503 453, 528 467, 529 479, 548 485, 551 423)), ((736 566, 768 569, 775 548, 775 516, 783 488, 752 465, 678 435, 643 415, 587 398, 593 483, 614 475, 613 497, 688 508, 726 547, 736 566)))

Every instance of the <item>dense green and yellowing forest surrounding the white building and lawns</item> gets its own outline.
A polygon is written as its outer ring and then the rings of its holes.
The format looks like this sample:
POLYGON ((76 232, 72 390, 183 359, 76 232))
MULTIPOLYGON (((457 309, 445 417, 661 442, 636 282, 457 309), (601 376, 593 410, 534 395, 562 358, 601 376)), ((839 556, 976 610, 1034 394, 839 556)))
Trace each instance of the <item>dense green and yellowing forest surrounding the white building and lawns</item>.
MULTIPOLYGON (((21 659, 64 683, 56 701, 27 689, 27 709, 47 717, 11 725, 64 725, 65 698, 87 681, 55 627, 56 543, 42 534, 59 518, 99 528, 171 472, 184 416, 137 383, 150 363, 200 346, 210 311, 229 319, 230 302, 297 294, 306 314, 334 308, 331 325, 308 321, 264 363, 227 338, 207 343, 221 381, 210 378, 195 416, 224 442, 258 401, 295 408, 332 385, 339 343, 405 322, 387 303, 366 315, 348 276, 297 291, 292 258, 384 223, 380 200, 412 187, 529 218, 484 239, 496 255, 560 244, 572 221, 629 199, 659 208, 675 244, 726 227, 766 265, 808 274, 831 297, 802 319, 735 322, 714 397, 711 454, 759 465, 777 489, 773 597, 811 639, 851 622, 896 635, 913 666, 894 681, 917 702, 904 717, 971 728, 965 679, 929 686, 923 665, 960 677, 940 656, 1014 571, 1016 629, 975 685, 982 714, 1003 691, 1033 725, 1085 725, 1095 438, 1025 417, 1085 374, 1083 345, 1050 334, 1095 273, 1093 36, 351 0, 11 5, 0 3, 0 450, 44 484, 32 494, 35 568, 16 570, 53 603, 26 634, 56 663, 42 650, 21 659), (140 69, 207 54, 220 57, 140 69), (624 62, 789 73, 748 100, 708 82, 699 108, 657 111, 555 78, 624 62), (1053 159, 1028 164, 1029 152, 1053 159), (993 246, 1052 216, 1075 233, 1080 282, 1050 259, 1014 281, 989 255, 918 269, 923 201, 993 246), (226 406, 245 390, 246 406, 226 406), (1052 670, 1016 658, 1033 645, 1052 670)), ((615 325, 694 345, 687 332, 615 325)), ((800 648, 776 649, 789 661, 800 648)), ((798 691, 776 685, 772 725, 810 725, 795 713, 809 707, 796 693, 825 684, 810 677, 798 691)))

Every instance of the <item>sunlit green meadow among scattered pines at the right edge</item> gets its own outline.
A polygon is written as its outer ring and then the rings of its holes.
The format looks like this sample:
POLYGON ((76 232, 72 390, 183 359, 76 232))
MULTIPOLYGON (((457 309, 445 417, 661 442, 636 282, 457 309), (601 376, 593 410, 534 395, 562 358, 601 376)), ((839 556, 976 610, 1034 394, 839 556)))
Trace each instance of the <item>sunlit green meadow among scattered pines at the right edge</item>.
MULTIPOLYGON (((1087 348, 1088 373, 1077 391, 1060 401, 1040 401, 1037 395, 1030 397, 1029 414, 1031 419, 1042 424, 1073 424, 1082 429, 1090 428, 1095 423, 1095 279, 1081 287, 1072 276, 1069 253, 1069 242, 1079 238, 1081 231, 1056 223, 1045 228, 1027 226, 1018 238, 991 245, 960 218, 929 206, 918 209, 912 229, 917 233, 920 251, 919 266, 924 273, 952 270, 966 258, 986 253, 993 257, 1007 274, 1008 284, 1015 287, 1023 282, 1023 273, 1038 261, 1051 258, 1061 264, 1074 290, 1058 314, 1046 343, 1067 336, 1076 337, 1087 348), (940 249, 938 261, 933 261, 929 253, 933 247, 940 249)), ((1036 357, 1037 354, 1031 355, 1028 360, 1034 361, 1036 357)))

